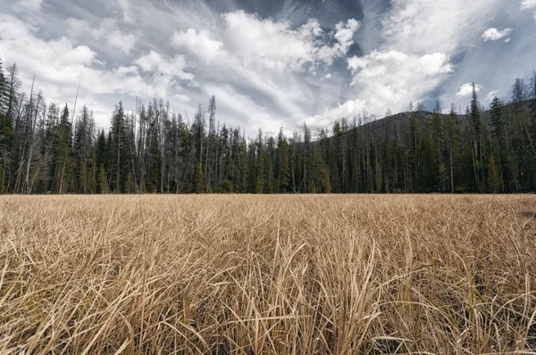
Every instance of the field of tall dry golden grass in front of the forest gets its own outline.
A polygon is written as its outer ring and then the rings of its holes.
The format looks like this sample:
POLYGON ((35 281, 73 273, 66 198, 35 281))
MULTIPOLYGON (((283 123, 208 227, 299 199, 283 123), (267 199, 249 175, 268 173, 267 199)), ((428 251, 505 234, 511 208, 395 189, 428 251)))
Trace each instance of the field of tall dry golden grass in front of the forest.
POLYGON ((0 353, 534 353, 536 196, 0 197, 0 353))

